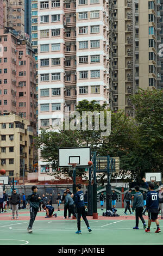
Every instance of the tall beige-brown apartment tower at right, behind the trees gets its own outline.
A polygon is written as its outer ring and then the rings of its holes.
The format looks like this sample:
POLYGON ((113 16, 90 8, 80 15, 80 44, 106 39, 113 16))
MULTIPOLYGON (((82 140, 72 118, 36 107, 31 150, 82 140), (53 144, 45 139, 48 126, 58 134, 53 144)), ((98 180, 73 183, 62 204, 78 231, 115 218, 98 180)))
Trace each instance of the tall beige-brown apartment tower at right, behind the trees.
POLYGON ((134 116, 129 95, 161 88, 158 46, 162 35, 160 0, 110 0, 112 107, 134 116))

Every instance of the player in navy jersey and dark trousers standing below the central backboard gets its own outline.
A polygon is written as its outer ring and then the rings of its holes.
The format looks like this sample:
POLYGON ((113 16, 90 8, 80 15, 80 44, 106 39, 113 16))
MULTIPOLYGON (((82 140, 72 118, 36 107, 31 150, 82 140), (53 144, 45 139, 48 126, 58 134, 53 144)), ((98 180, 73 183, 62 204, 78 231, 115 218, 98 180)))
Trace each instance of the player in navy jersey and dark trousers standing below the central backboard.
POLYGON ((76 200, 75 200, 75 204, 77 207, 77 225, 78 225, 78 230, 76 231, 76 234, 81 234, 82 231, 80 230, 80 218, 81 215, 83 217, 83 220, 85 221, 85 224, 87 226, 87 229, 89 230, 89 232, 91 232, 92 230, 90 229, 90 225, 89 222, 87 221, 86 218, 86 214, 85 214, 85 203, 84 203, 84 193, 81 190, 82 186, 80 184, 78 184, 76 186, 77 189, 77 193, 75 194, 76 200))

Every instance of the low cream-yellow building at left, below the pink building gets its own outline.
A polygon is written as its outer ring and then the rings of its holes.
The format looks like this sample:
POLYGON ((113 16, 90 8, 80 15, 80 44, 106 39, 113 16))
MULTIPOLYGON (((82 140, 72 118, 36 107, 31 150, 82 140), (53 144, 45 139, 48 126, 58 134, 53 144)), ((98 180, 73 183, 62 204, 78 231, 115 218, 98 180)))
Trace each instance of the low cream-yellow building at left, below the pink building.
POLYGON ((12 113, 0 115, 0 168, 9 178, 23 180, 33 170, 33 127, 12 113), (28 171, 28 172, 27 172, 28 171))

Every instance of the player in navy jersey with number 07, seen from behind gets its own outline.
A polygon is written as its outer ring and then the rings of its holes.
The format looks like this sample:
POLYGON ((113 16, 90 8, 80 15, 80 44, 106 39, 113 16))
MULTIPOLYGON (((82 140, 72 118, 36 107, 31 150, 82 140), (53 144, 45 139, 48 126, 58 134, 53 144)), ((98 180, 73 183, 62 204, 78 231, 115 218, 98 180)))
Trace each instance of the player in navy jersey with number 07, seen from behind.
POLYGON ((154 191, 154 184, 149 184, 149 191, 147 193, 147 211, 148 211, 148 228, 145 230, 147 233, 150 232, 151 222, 152 220, 156 223, 156 231, 155 233, 159 233, 161 231, 160 224, 158 221, 158 213, 159 213, 159 195, 158 192, 154 191))

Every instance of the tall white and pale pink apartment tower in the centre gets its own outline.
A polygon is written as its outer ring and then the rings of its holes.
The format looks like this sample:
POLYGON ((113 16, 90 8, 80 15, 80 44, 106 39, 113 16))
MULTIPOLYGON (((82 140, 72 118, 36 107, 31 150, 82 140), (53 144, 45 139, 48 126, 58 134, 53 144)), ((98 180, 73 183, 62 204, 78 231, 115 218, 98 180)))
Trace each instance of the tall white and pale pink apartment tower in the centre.
MULTIPOLYGON (((83 99, 110 106, 108 0, 38 1, 37 8, 39 128, 83 99)), ((40 159, 39 180, 46 172, 40 159)))

